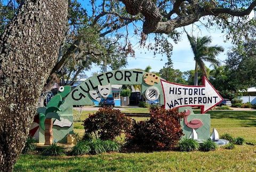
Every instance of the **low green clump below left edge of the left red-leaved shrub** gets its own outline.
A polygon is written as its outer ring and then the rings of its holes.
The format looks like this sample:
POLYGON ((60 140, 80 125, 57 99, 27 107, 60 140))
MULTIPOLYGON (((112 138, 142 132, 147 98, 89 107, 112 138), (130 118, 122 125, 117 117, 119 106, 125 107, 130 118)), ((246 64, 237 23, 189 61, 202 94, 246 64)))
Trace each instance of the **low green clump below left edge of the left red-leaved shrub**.
POLYGON ((90 153, 91 148, 88 141, 78 141, 77 144, 72 148, 70 154, 74 156, 83 155, 90 153))

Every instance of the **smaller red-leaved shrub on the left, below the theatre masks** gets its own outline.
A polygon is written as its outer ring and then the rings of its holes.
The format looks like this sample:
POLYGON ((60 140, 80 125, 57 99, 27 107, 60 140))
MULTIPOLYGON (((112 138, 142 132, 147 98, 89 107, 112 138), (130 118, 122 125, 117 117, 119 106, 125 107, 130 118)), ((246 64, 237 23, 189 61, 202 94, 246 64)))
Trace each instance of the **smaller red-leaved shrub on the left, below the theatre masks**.
POLYGON ((101 140, 114 140, 131 126, 131 118, 118 109, 100 108, 95 114, 84 120, 85 134, 101 140))

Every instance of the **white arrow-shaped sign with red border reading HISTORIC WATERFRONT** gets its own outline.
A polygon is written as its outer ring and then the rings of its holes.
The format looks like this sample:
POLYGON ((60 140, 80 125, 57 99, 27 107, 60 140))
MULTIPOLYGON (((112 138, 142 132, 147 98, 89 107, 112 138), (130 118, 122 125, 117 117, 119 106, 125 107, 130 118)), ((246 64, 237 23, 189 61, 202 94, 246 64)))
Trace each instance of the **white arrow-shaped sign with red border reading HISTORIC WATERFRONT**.
POLYGON ((218 105, 223 98, 203 76, 203 85, 182 85, 161 80, 165 109, 183 106, 201 106, 201 114, 218 105))

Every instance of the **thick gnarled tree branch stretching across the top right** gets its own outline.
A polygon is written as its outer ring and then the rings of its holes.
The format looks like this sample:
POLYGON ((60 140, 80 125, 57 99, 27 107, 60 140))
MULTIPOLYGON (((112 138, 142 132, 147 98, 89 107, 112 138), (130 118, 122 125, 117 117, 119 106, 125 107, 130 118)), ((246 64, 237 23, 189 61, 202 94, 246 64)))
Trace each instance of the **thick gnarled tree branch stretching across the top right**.
POLYGON ((181 0, 173 1, 173 8, 167 14, 162 14, 157 7, 155 1, 147 0, 119 0, 124 3, 127 13, 136 15, 141 13, 145 16, 143 23, 143 32, 149 33, 171 33, 174 29, 184 27, 186 25, 199 21, 203 16, 220 14, 229 14, 231 16, 244 16, 249 15, 253 8, 256 6, 256 1, 253 1, 247 8, 243 10, 233 10, 231 8, 218 8, 218 7, 203 7, 199 5, 198 0, 186 1, 192 12, 182 15, 180 8, 183 2, 181 0), (176 16, 175 16, 175 15, 176 16), (174 16, 173 16, 174 15, 174 16), (163 21, 165 18, 167 21, 163 21))

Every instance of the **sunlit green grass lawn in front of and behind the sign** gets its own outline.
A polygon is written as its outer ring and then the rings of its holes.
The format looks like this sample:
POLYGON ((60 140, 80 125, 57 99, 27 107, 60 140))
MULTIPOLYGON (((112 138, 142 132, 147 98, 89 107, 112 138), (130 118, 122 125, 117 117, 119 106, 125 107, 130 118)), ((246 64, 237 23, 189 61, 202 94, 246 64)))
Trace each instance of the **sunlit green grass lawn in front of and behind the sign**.
MULTIPOLYGON (((147 113, 147 108, 126 108, 127 112, 147 113)), ((126 112, 126 111, 125 111, 126 112)), ((92 111, 83 111, 81 120, 92 111)), ((199 111, 196 111, 199 113, 199 111)), ((219 134, 228 132, 256 142, 256 111, 209 111, 211 127, 219 134)), ((135 120, 145 120, 134 117, 135 120)), ((82 122, 74 131, 83 135, 82 122)), ((213 152, 103 153, 82 157, 21 155, 15 171, 256 171, 256 146, 236 145, 234 150, 213 152)))

